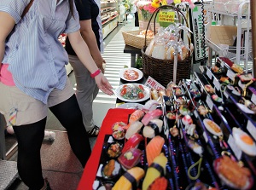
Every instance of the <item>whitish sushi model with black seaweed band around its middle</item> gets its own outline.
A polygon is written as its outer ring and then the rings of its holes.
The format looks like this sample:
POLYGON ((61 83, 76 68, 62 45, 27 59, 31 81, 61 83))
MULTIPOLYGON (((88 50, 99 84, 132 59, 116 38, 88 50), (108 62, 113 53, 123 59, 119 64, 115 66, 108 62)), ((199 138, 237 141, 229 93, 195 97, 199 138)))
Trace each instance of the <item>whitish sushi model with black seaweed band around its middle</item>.
POLYGON ((163 128, 163 121, 159 118, 150 120, 147 126, 143 128, 143 136, 147 138, 153 138, 155 135, 160 135, 163 128))

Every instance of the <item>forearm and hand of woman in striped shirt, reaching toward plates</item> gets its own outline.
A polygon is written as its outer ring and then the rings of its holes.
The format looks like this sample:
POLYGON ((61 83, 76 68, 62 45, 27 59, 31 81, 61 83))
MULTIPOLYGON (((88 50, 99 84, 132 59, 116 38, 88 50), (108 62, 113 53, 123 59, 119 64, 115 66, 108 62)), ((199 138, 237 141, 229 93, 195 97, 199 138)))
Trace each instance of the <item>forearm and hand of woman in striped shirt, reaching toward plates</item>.
MULTIPOLYGON (((83 37, 80 32, 73 32, 68 34, 70 44, 72 45, 73 50, 78 55, 79 60, 84 64, 84 66, 89 70, 90 73, 95 73, 98 70, 95 61, 90 55, 90 50, 88 49, 87 44, 84 42, 83 37)), ((113 95, 112 86, 108 83, 108 79, 104 77, 102 73, 98 74, 95 77, 96 84, 102 92, 113 95)))

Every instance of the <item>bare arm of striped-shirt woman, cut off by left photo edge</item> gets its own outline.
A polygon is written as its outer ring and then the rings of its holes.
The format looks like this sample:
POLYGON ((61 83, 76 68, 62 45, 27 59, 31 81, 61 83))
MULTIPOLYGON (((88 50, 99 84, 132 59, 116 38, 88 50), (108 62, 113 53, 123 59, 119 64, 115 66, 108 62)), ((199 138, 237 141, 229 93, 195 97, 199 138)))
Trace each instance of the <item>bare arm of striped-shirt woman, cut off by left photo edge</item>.
POLYGON ((8 37, 14 26, 14 18, 8 13, 0 12, 0 67, 3 61, 6 37, 8 37))

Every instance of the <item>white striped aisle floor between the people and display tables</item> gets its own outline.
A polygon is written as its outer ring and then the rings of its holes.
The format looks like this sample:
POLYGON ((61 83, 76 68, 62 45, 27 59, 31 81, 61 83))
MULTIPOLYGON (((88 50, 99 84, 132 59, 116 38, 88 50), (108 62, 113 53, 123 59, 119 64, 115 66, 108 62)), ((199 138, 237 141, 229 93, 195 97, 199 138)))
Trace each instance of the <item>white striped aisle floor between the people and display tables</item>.
MULTIPOLYGON (((134 21, 126 23, 121 27, 119 32, 112 38, 108 45, 104 49, 102 57, 106 60, 105 76, 108 81, 116 89, 119 86, 119 70, 124 66, 131 66, 131 55, 124 53, 125 42, 122 36, 122 31, 137 30, 138 27, 134 26, 134 21)), ((115 107, 116 96, 105 95, 102 91, 96 96, 96 100, 93 104, 94 120, 98 126, 102 125, 102 120, 109 108, 115 107)))

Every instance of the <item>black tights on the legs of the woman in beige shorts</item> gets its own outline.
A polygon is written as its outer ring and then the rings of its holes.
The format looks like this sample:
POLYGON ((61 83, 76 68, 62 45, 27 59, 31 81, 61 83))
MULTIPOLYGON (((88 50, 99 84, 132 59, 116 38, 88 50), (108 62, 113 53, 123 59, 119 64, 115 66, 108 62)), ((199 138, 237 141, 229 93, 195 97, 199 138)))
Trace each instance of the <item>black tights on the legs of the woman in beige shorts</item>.
MULTIPOLYGON (((49 109, 66 128, 73 153, 79 158, 84 167, 91 153, 90 141, 84 128, 82 113, 75 95, 49 109)), ((26 186, 32 190, 44 187, 40 148, 44 140, 45 124, 46 118, 34 124, 14 126, 18 141, 19 175, 26 186)))

